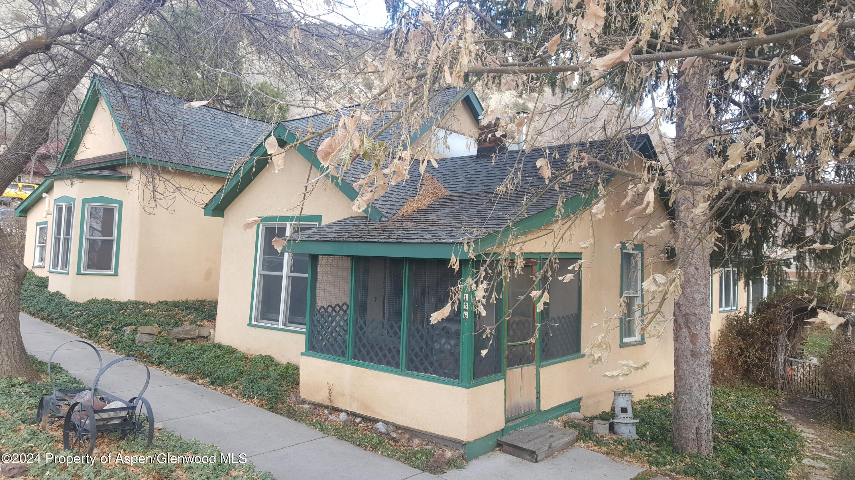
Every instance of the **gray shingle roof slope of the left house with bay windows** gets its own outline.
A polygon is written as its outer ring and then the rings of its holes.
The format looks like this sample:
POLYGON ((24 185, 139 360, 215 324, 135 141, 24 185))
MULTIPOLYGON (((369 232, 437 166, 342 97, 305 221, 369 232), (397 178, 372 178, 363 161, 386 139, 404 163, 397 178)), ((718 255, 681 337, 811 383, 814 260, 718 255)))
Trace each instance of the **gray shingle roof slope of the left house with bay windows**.
POLYGON ((131 155, 228 173, 269 132, 262 120, 207 106, 184 108, 186 100, 103 77, 97 82, 131 155))

